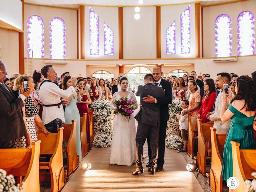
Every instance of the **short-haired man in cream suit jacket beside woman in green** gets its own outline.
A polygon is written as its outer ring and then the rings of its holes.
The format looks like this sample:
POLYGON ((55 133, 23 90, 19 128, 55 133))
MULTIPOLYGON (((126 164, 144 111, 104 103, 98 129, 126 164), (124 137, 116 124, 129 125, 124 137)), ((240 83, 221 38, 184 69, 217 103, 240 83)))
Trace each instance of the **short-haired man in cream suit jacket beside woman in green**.
MULTIPOLYGON (((228 128, 230 126, 230 120, 226 122, 222 122, 220 120, 220 111, 222 108, 222 91, 224 91, 224 84, 230 83, 230 75, 228 73, 219 73, 217 74, 216 83, 220 88, 220 93, 217 95, 215 103, 214 103, 214 111, 207 114, 207 118, 211 121, 214 121, 213 127, 216 128, 216 133, 226 134, 228 132, 228 128)), ((234 94, 232 93, 232 98, 234 98, 234 94)), ((230 104, 228 103, 226 109, 230 104)))

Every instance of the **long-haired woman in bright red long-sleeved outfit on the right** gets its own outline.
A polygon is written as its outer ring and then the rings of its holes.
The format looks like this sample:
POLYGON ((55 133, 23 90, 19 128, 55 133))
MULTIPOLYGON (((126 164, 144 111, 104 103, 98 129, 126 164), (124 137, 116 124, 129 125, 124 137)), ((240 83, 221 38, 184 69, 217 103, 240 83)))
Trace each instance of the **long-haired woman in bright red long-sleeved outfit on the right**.
POLYGON ((202 106, 198 111, 198 117, 202 120, 202 123, 207 123, 210 120, 206 118, 208 112, 212 112, 212 108, 216 99, 216 88, 213 79, 206 79, 204 81, 204 97, 202 98, 202 106))

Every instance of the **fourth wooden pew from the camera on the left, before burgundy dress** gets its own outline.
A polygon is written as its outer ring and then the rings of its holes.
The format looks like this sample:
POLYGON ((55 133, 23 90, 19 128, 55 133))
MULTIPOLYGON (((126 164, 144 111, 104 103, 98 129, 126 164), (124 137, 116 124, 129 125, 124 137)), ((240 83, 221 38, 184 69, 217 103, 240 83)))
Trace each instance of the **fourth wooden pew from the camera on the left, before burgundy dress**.
POLYGON ((80 137, 81 137, 81 147, 82 147, 82 158, 88 153, 88 144, 87 144, 87 113, 84 113, 83 117, 80 117, 80 137))

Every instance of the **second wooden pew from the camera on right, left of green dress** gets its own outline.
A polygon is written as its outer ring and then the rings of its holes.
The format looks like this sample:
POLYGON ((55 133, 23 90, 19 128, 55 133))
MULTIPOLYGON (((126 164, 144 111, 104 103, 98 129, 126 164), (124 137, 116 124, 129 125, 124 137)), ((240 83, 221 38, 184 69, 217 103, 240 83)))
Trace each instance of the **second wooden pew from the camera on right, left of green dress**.
POLYGON ((222 155, 227 134, 216 134, 216 128, 211 127, 212 166, 210 172, 210 187, 213 192, 222 192, 222 155))

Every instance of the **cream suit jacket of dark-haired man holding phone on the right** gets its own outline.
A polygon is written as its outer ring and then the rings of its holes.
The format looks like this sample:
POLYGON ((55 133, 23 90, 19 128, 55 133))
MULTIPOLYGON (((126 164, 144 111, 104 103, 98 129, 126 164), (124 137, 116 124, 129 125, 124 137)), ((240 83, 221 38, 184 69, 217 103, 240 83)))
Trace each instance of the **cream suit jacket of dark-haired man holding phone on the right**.
MULTIPOLYGON (((213 127, 216 128, 216 133, 227 133, 228 128, 230 126, 231 121, 228 120, 226 122, 222 122, 220 120, 220 111, 222 108, 222 92, 220 92, 215 100, 215 108, 214 108, 214 113, 210 115, 210 120, 214 121, 213 127)), ((232 98, 234 98, 234 94, 232 93, 232 98)), ((229 102, 227 103, 226 109, 229 106, 229 102)))

